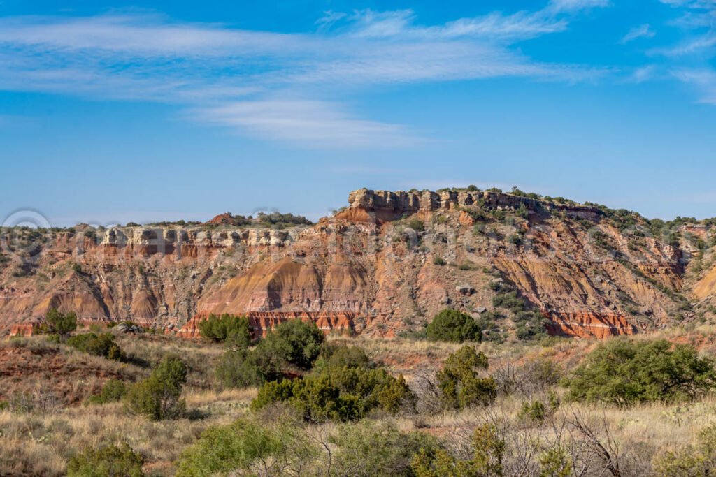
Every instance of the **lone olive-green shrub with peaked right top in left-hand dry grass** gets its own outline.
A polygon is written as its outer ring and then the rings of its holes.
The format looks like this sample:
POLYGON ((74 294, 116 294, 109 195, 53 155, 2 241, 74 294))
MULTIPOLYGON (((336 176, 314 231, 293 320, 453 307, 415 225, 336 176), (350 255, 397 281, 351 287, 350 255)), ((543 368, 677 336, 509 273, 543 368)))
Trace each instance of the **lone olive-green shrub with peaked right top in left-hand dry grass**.
POLYGON ((127 391, 125 408, 153 421, 179 418, 186 408, 181 399, 186 375, 187 368, 182 360, 175 355, 165 356, 149 378, 132 385, 127 391))

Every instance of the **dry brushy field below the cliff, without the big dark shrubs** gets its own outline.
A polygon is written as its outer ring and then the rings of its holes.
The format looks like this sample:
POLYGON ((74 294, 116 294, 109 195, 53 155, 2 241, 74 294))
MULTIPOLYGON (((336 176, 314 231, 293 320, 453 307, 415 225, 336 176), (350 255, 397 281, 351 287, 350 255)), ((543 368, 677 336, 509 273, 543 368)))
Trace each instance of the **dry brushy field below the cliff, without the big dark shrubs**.
MULTIPOLYGON (((704 325, 631 340, 667 338, 710 358, 713 331, 704 325)), ((359 418, 328 405, 319 415, 296 407, 295 396, 257 406, 262 385, 228 387, 216 373, 236 352, 226 343, 116 333, 123 359, 110 360, 54 341, 39 335, 0 345, 0 475, 66 475, 73 458, 71 475, 98 476, 676 476, 707 475, 716 461, 710 392, 674 402, 571 399, 565 377, 599 347, 594 340, 468 344, 488 358, 479 376, 493 380, 495 395, 447 406, 437 395, 445 390, 426 383, 463 345, 331 336, 328 345, 362 348, 372 369, 404 375, 415 395, 410 406, 378 406, 359 418), (92 403, 107 381, 147 380, 167 355, 185 363, 180 415, 152 418, 124 400, 92 403), (135 470, 126 459, 118 473, 77 467, 77 456, 91 462, 93 449, 108 446, 137 458, 135 470)), ((110 467, 120 461, 110 458, 110 467)))

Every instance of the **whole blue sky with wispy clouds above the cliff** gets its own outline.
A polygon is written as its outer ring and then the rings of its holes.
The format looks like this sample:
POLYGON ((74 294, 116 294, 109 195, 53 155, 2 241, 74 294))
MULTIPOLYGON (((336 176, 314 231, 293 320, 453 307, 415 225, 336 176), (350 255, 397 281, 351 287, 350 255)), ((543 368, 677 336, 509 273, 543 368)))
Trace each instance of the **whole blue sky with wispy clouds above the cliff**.
POLYGON ((716 216, 716 0, 0 1, 0 215, 475 184, 716 216))

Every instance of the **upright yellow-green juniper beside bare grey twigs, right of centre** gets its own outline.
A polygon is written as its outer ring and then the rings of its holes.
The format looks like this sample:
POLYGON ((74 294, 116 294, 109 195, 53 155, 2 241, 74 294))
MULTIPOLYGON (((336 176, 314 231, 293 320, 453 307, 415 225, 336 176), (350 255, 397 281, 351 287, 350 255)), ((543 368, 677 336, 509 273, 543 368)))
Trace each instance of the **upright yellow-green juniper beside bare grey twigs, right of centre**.
POLYGON ((493 378, 481 378, 478 373, 487 368, 485 353, 477 353, 472 346, 463 346, 448 355, 444 367, 437 373, 437 386, 445 407, 460 409, 492 403, 497 395, 497 384, 493 378))

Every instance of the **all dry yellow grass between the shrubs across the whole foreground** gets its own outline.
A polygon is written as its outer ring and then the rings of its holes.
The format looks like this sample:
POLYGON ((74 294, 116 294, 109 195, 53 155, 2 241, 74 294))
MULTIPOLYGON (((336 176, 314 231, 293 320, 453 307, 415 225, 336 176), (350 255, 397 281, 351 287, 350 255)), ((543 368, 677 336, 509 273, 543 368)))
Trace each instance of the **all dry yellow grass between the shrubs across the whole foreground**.
MULTIPOLYGON (((700 325, 664 330, 635 339, 667 338, 694 343, 712 355, 716 346, 716 328, 700 325)), ((358 345, 378 363, 392 371, 411 375, 425 368, 439 368, 445 357, 460 348, 453 343, 432 343, 426 340, 370 339, 330 337, 358 345)), ((128 415, 119 403, 107 405, 55 408, 46 413, 19 414, 0 412, 0 475, 64 474, 67 459, 87 446, 126 441, 147 461, 146 470, 153 475, 172 475, 173 462, 184 448, 194 443, 210 426, 228 424, 246 415, 248 405, 256 396, 256 388, 222 390, 213 375, 216 359, 223 353, 218 345, 195 343, 173 338, 122 335, 120 345, 126 353, 146 365, 114 363, 62 347, 60 353, 70 365, 92 365, 120 373, 129 380, 147 375, 150 365, 167 353, 180 355, 189 365, 190 379, 183 397, 192 418, 153 423, 145 418, 128 415)), ((534 343, 480 343, 478 348, 490 357, 493 368, 521 363, 532 358, 556 360, 570 368, 584 357, 597 342, 593 340, 549 340, 534 343)), ((47 343, 32 338, 14 345, 42 350, 47 343)), ((42 376, 37 377, 42 385, 42 376)), ((84 388, 83 388, 84 389, 84 388)), ((544 398, 544 396, 541 396, 544 398)), ((533 398, 533 397, 531 397, 533 398)), ((422 431, 435 436, 463 437, 475 426, 492 420, 502 423, 508 431, 526 433, 541 443, 556 441, 560 426, 569 426, 575 417, 584 419, 604 437, 604 430, 624 455, 634 456, 624 475, 647 473, 648 463, 667 448, 691 443, 697 432, 716 423, 716 398, 707 397, 680 405, 639 405, 622 409, 611 406, 563 404, 543 423, 524 423, 520 410, 527 397, 500 397, 492 408, 473 408, 460 412, 425 413, 390 418, 402 431, 422 431)), ((319 428, 316 428, 319 429, 319 428)), ((308 432, 318 432, 308 429, 308 432)), ((334 425, 322 426, 322 430, 334 425)), ((514 441, 518 443, 518 439, 514 441)), ((645 475, 645 474, 644 474, 645 475)))

